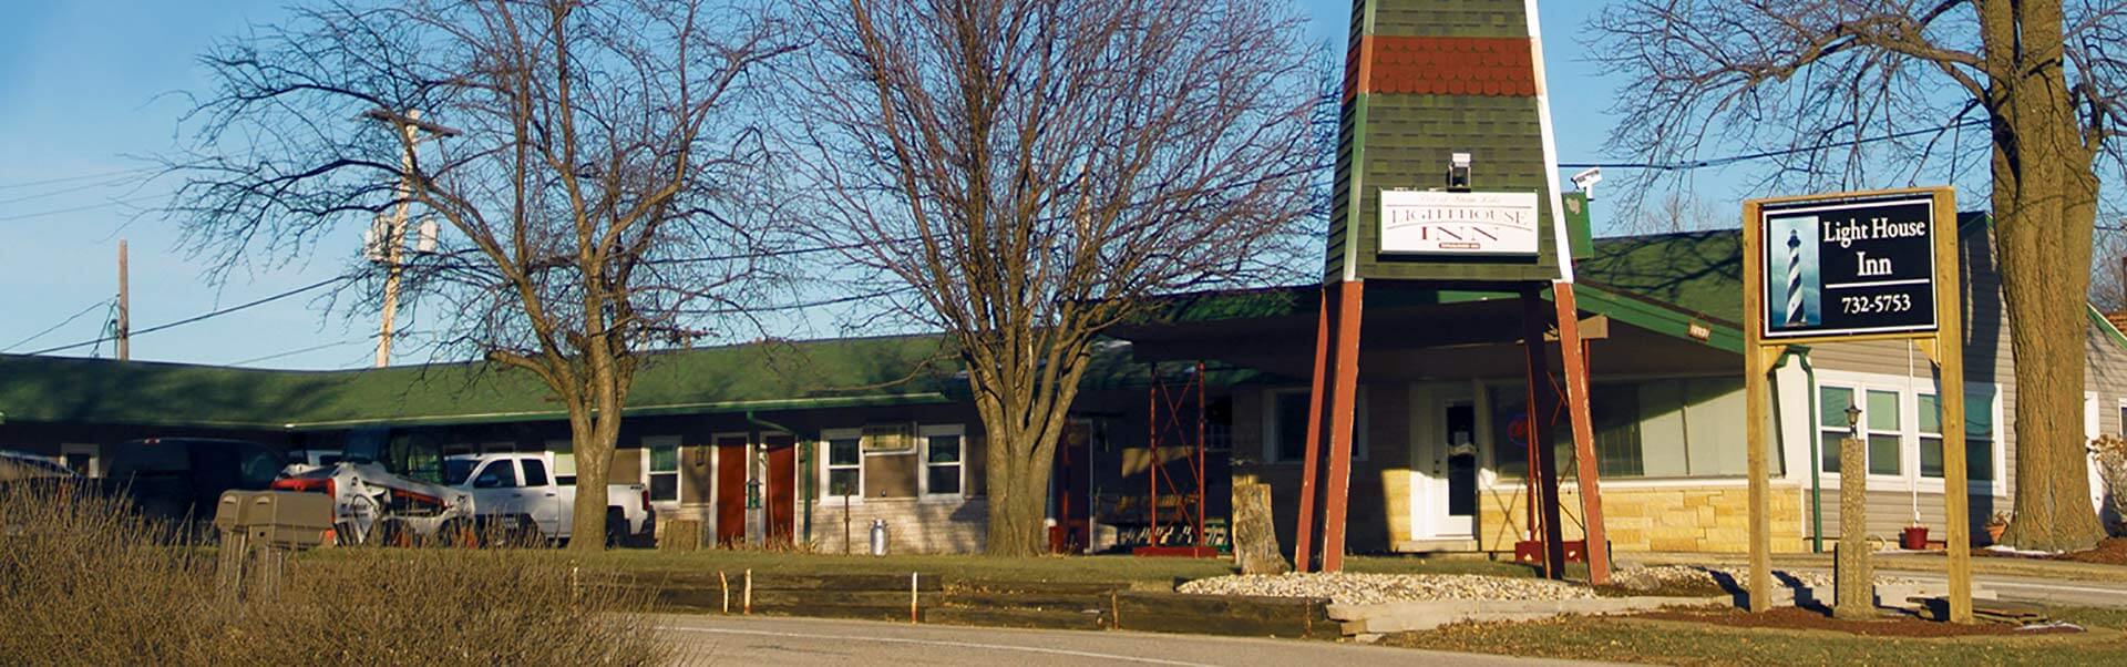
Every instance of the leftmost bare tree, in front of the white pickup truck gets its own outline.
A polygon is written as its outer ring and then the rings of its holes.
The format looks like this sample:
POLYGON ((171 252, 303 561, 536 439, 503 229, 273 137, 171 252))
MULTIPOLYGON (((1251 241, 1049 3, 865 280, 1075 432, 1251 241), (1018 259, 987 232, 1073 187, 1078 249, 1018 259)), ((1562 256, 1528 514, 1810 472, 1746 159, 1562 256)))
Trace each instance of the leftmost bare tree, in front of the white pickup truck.
POLYGON ((202 57, 215 91, 187 115, 168 212, 223 268, 332 249, 402 206, 440 219, 428 253, 387 225, 359 272, 440 306, 438 355, 538 376, 576 452, 572 548, 602 548, 644 353, 717 336, 757 287, 774 217, 740 102, 791 49, 781 32, 702 0, 298 8, 202 57))

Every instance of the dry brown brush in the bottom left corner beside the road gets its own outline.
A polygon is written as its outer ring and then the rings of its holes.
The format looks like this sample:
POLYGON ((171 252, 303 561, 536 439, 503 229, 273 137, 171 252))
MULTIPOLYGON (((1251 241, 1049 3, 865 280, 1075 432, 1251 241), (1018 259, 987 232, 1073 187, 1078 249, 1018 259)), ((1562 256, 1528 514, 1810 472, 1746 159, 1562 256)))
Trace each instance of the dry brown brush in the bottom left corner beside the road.
POLYGON ((640 597, 508 550, 294 559, 279 595, 217 591, 211 550, 119 501, 0 486, 0 656, 13 665, 651 665, 640 597))

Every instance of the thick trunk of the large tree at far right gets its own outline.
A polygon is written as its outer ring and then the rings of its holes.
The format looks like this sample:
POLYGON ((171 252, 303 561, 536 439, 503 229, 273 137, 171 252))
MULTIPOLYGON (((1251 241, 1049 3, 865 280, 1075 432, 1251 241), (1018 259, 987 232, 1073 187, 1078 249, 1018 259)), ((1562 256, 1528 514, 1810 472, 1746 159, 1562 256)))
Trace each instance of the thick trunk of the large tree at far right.
POLYGON ((2002 544, 2084 550, 2104 537, 2082 433, 2095 153, 2082 144, 2061 70, 2059 15, 2019 19, 2014 40, 2002 25, 1987 28, 1989 51, 2019 55, 2016 79, 1993 81, 1991 104, 2002 300, 2016 367, 2016 516, 2002 544))

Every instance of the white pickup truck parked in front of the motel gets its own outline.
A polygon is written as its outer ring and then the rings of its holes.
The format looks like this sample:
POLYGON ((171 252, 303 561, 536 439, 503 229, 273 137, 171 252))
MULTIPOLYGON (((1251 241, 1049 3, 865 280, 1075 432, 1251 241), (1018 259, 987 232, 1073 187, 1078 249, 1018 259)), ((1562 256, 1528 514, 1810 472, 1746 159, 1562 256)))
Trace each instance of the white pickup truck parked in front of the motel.
MULTIPOLYGON (((442 459, 442 478, 472 495, 476 523, 502 529, 538 529, 540 537, 574 535, 576 486, 559 484, 547 457, 530 452, 457 455, 442 459)), ((606 486, 606 544, 647 546, 657 525, 642 484, 606 486)))

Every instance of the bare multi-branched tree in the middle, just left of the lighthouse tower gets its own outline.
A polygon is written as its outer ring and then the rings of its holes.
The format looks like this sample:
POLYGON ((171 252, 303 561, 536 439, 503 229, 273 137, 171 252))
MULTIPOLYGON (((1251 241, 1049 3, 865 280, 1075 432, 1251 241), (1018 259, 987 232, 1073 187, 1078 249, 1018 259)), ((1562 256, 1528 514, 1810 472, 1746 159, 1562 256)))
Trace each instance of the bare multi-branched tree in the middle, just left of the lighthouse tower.
POLYGON ((1302 23, 1261 0, 849 0, 798 23, 815 232, 947 334, 987 429, 987 550, 1036 554, 1102 331, 1276 268, 1306 227, 1302 23))

